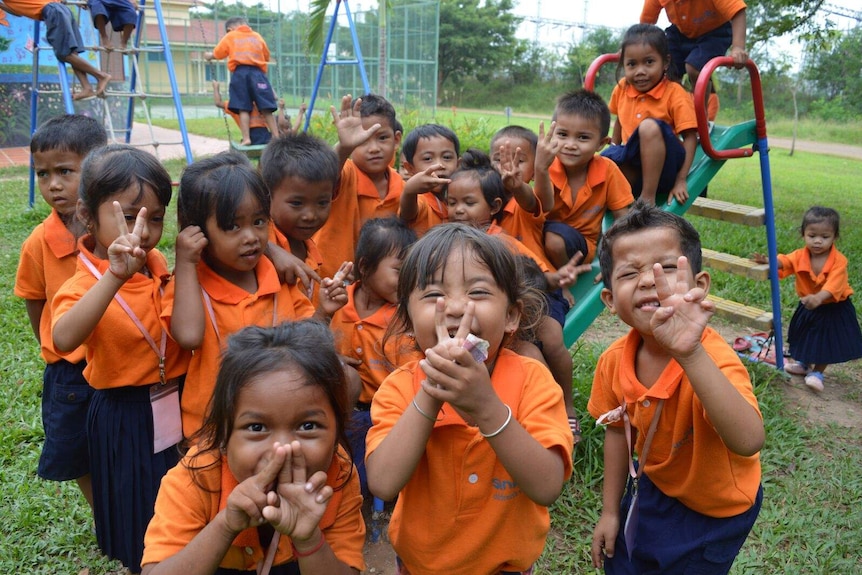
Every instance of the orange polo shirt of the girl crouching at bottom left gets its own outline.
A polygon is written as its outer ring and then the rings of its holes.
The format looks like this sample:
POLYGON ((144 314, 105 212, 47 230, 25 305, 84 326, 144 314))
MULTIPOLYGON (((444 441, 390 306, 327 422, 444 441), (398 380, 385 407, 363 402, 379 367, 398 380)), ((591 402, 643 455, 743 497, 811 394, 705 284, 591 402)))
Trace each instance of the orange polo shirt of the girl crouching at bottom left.
MULTIPOLYGON (((153 519, 144 536, 142 565, 160 563, 182 551, 215 516, 227 507, 227 498, 237 487, 237 480, 226 458, 216 454, 198 455, 193 448, 183 460, 162 478, 156 497, 153 519), (196 471, 189 465, 197 467, 196 471)), ((365 544, 365 522, 362 519, 362 495, 359 476, 346 454, 339 448, 327 471, 326 484, 335 492, 320 519, 320 529, 339 561, 350 567, 365 569, 362 547, 365 544), (345 477, 351 473, 344 484, 345 477), (343 487, 339 487, 342 484, 343 487)), ((233 540, 219 566, 224 569, 251 571, 263 561, 269 541, 261 545, 257 529, 241 531, 233 540)), ((273 565, 294 560, 290 537, 282 535, 273 565)))

